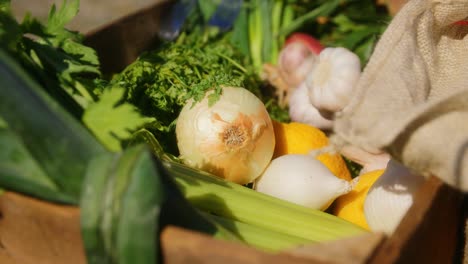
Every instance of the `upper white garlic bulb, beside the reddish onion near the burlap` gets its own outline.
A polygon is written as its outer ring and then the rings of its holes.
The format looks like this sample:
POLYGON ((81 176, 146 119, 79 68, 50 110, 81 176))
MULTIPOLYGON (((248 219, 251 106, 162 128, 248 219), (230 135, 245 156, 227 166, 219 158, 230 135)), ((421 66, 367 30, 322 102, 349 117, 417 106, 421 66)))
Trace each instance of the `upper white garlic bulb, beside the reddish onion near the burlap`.
POLYGON ((345 48, 325 48, 307 77, 309 99, 320 111, 338 112, 349 102, 359 77, 359 57, 345 48))

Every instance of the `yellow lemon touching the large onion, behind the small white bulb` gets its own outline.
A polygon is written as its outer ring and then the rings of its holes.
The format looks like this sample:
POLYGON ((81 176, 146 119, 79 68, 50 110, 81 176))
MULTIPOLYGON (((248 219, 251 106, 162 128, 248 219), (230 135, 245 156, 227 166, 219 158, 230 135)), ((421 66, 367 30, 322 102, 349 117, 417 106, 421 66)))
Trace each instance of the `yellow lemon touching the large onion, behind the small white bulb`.
MULTIPOLYGON (((275 131, 275 151, 273 158, 286 154, 307 154, 311 150, 328 146, 327 135, 320 129, 308 124, 273 121, 275 131)), ((351 180, 346 162, 340 154, 324 153, 317 157, 335 176, 351 180)))

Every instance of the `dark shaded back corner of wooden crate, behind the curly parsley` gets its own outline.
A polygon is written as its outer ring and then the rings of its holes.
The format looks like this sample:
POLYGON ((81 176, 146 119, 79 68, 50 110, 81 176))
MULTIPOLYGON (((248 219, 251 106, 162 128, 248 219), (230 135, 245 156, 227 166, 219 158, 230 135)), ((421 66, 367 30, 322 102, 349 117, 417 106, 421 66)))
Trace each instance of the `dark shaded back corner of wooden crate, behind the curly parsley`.
POLYGON ((170 2, 161 0, 85 34, 84 44, 97 51, 103 73, 120 72, 159 41, 160 20, 170 2))

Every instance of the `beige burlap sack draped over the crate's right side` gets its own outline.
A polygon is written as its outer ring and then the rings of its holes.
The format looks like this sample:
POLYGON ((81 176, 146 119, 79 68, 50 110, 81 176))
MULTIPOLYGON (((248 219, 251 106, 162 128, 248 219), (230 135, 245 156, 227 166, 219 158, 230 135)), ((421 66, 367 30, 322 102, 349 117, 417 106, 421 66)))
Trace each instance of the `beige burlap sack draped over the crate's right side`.
POLYGON ((468 191, 467 0, 411 0, 394 17, 333 142, 384 150, 468 191))

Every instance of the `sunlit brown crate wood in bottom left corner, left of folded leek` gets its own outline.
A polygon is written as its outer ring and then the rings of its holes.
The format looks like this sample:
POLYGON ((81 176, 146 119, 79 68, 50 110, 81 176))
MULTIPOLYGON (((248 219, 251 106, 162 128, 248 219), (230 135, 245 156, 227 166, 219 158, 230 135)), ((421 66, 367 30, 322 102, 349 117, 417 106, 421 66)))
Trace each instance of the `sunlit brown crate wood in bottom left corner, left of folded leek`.
POLYGON ((6 192, 0 214, 0 263, 86 263, 77 207, 6 192))

